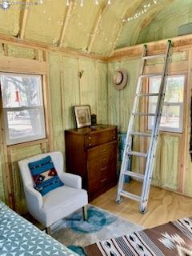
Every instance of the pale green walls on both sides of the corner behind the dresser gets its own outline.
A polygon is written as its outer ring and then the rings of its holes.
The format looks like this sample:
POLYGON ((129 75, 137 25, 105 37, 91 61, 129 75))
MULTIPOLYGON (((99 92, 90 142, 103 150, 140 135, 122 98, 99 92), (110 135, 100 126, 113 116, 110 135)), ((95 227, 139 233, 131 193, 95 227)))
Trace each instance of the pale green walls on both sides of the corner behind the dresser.
MULTIPOLYGON (((34 51, 22 47, 10 46, 10 56, 19 58, 34 58, 34 51)), ((0 47, 0 54, 3 50, 0 47)), ((41 52, 39 52, 42 58, 41 52)), ((174 54, 174 62, 186 59, 186 53, 174 54)), ((65 155, 64 130, 74 127, 73 106, 90 104, 91 112, 97 114, 99 123, 118 125, 120 131, 125 132, 130 118, 134 93, 138 78, 139 59, 125 59, 117 62, 104 63, 90 58, 70 58, 64 54, 50 52, 48 66, 50 75, 50 96, 54 135, 54 150, 60 150, 65 155), (124 90, 115 90, 113 74, 118 68, 128 71, 129 82, 124 90), (79 71, 83 71, 79 78, 79 71)), ((154 65, 153 62, 150 65, 154 65)), ((137 122, 137 127, 140 123, 137 122)), ((2 138, 0 136, 0 141, 2 138)), ((178 158, 179 138, 171 134, 161 134, 158 143, 156 162, 154 165, 153 184, 177 190, 178 186, 178 158)), ((138 142, 135 146, 139 147, 138 142)), ((45 149, 48 150, 48 149, 45 149)), ((40 154, 40 145, 11 150, 11 162, 14 175, 14 195, 16 210, 26 212, 26 202, 22 191, 22 181, 18 171, 18 160, 40 154)), ((2 143, 0 146, 0 199, 5 200, 2 184, 4 157, 2 143)), ((134 161, 135 170, 140 170, 140 162, 134 161)), ((185 194, 192 196, 192 166, 188 156, 186 172, 185 194)))

